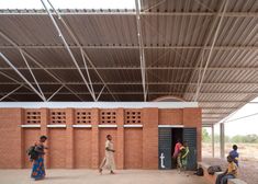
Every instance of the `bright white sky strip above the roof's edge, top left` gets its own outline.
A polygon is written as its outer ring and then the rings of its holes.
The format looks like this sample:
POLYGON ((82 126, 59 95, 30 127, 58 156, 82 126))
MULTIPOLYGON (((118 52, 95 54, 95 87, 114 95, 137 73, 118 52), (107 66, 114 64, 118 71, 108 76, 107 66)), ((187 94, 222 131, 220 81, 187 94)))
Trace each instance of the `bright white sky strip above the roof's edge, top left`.
MULTIPOLYGON (((55 9, 135 9, 135 0, 49 0, 55 9)), ((47 3, 47 0, 44 0, 47 3)), ((43 9, 41 0, 0 0, 0 9, 43 9)))

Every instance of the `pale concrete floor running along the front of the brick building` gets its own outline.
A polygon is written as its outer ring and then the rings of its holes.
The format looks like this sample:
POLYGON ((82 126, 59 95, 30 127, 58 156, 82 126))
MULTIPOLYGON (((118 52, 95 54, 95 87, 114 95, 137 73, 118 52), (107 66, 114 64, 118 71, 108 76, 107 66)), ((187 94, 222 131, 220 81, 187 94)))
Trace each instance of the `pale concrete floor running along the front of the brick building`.
POLYGON ((47 170, 44 181, 30 179, 30 170, 0 170, 0 184, 207 184, 203 177, 177 171, 121 170, 115 175, 97 170, 47 170))

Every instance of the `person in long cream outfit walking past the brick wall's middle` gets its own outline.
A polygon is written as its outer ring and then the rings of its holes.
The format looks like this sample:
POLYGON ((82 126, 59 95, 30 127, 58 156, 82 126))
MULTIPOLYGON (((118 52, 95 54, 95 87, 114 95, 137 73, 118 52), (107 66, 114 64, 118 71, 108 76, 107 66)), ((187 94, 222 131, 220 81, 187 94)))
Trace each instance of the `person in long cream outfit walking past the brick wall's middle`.
POLYGON ((105 141, 105 157, 103 161, 100 164, 99 172, 102 174, 103 169, 110 170, 111 174, 114 174, 115 170, 115 163, 114 163, 114 146, 112 142, 112 136, 108 135, 106 136, 106 141, 105 141))

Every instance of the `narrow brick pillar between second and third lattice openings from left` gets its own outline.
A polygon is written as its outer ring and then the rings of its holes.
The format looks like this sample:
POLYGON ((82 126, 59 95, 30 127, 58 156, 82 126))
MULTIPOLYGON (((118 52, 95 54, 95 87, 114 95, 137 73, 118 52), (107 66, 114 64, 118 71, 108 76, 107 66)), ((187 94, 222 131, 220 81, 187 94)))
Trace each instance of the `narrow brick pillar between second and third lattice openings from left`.
POLYGON ((74 128, 75 111, 72 108, 66 110, 66 168, 75 168, 75 150, 74 150, 74 128))

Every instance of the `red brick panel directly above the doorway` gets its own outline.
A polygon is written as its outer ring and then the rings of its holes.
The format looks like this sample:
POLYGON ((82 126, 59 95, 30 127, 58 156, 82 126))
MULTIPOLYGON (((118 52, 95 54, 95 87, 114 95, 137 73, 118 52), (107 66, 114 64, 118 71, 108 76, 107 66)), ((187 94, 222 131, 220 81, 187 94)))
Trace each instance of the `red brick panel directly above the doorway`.
POLYGON ((159 110, 159 125, 182 125, 182 110, 159 110))

